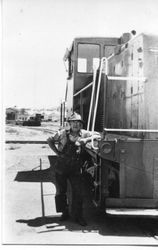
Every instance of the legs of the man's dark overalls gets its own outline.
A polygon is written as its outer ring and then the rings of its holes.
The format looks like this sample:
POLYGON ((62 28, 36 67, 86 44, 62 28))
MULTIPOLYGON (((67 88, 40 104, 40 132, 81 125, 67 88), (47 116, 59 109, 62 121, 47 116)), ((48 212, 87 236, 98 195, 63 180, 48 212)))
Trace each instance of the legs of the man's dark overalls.
POLYGON ((82 215, 82 179, 79 171, 68 172, 64 174, 56 173, 56 210, 57 212, 64 212, 65 209, 68 209, 68 200, 67 200, 67 187, 68 183, 71 185, 71 195, 72 195, 72 204, 71 204, 71 213, 74 218, 82 215))

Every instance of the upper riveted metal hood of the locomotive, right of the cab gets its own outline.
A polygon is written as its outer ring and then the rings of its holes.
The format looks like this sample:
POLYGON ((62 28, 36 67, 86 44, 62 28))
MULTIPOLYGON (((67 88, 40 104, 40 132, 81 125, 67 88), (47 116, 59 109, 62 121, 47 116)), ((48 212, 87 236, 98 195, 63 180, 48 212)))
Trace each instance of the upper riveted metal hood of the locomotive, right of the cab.
MULTIPOLYGON (((158 129, 158 37, 140 34, 109 59, 107 88, 108 128, 158 129), (132 80, 132 77, 139 79, 132 80), (141 80, 146 78, 144 82, 141 80)), ((128 132, 129 136, 155 139, 158 133, 128 132)))

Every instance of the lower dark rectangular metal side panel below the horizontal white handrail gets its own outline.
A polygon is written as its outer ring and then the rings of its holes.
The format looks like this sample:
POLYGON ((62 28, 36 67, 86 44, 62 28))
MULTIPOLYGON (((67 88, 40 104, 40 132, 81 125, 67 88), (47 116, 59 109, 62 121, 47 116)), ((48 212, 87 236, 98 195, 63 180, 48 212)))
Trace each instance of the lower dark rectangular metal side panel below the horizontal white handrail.
POLYGON ((117 147, 120 148, 122 197, 157 198, 158 141, 131 140, 120 142, 117 147))

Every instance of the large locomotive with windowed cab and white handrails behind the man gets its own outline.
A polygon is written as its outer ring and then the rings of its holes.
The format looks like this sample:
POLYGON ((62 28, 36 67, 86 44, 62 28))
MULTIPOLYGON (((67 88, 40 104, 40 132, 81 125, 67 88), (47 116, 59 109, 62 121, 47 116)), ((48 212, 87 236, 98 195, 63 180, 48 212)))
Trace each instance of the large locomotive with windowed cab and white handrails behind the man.
POLYGON ((75 111, 101 134, 84 171, 104 210, 158 208, 158 37, 133 34, 75 38, 64 55, 61 125, 75 111))

